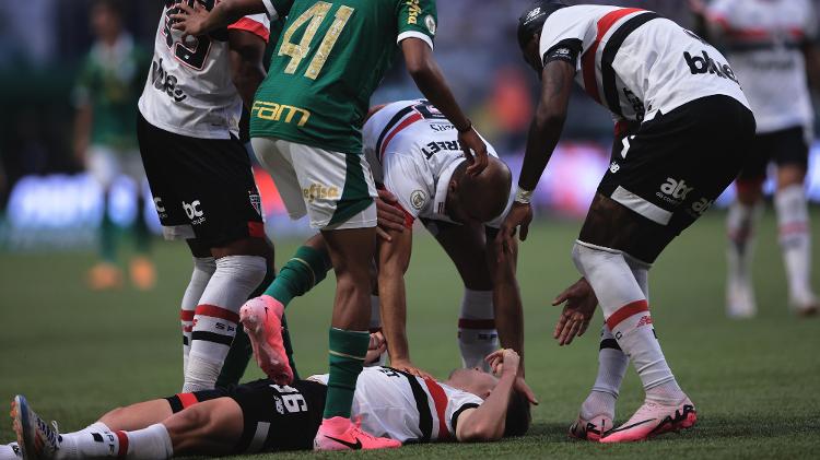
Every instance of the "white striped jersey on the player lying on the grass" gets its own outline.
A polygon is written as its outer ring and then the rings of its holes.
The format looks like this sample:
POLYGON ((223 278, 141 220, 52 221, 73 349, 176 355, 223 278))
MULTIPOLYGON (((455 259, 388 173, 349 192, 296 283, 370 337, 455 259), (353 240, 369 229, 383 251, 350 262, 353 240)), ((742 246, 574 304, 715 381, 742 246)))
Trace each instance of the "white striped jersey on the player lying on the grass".
MULTIPOLYGON (((312 376, 327 385, 328 375, 312 376)), ((365 367, 356 380, 352 415, 362 429, 401 443, 455 439, 456 421, 483 400, 435 380, 425 380, 389 367, 365 367)))

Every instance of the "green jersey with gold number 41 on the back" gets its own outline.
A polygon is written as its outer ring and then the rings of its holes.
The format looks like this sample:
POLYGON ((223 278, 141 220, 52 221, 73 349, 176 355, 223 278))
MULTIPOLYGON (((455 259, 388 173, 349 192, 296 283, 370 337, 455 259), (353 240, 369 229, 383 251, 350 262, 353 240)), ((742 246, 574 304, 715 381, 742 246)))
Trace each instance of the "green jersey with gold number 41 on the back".
POLYGON ((251 138, 362 152, 370 98, 399 50, 433 46, 435 0, 272 0, 284 31, 250 114, 251 138))

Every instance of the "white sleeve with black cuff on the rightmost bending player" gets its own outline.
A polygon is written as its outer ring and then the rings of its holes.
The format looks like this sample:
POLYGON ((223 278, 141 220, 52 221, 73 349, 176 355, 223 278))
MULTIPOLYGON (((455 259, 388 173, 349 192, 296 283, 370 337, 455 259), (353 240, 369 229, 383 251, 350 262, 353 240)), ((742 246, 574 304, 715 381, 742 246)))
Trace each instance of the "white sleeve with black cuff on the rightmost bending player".
POLYGON ((584 52, 584 43, 591 43, 587 35, 594 33, 588 21, 573 21, 567 17, 575 14, 566 8, 552 13, 543 23, 539 51, 541 60, 546 66, 549 62, 561 60, 569 62, 575 69, 578 68, 578 57, 584 52))

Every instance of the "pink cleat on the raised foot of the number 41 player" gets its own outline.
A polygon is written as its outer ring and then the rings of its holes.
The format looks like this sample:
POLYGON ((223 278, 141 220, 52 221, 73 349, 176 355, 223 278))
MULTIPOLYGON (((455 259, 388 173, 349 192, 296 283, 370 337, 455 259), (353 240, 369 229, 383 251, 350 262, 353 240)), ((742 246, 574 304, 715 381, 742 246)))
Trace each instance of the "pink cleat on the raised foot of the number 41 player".
POLYGON ((251 298, 239 308, 239 321, 250 339, 256 363, 277 385, 293 381, 282 341, 283 314, 282 303, 269 295, 251 298))

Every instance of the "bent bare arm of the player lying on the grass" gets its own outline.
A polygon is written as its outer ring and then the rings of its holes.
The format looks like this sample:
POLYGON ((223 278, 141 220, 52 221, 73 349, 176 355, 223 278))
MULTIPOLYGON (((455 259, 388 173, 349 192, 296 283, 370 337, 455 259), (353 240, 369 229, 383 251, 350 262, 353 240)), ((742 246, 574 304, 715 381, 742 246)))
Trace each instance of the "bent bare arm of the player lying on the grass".
POLYGON ((509 394, 513 392, 516 373, 505 371, 490 396, 459 426, 460 441, 497 440, 504 436, 509 394))

